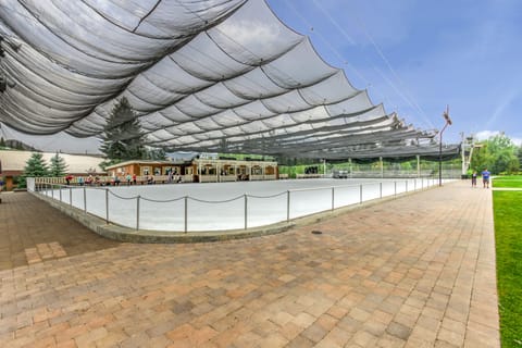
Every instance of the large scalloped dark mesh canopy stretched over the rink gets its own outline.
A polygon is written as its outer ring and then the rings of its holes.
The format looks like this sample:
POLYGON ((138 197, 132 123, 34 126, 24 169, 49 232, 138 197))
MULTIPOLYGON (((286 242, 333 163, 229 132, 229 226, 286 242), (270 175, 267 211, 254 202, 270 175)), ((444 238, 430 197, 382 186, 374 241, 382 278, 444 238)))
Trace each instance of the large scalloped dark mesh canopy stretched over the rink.
POLYGON ((27 134, 100 136, 126 97, 147 144, 167 149, 438 151, 435 132, 373 104, 263 0, 2 0, 0 35, 0 122, 27 134))

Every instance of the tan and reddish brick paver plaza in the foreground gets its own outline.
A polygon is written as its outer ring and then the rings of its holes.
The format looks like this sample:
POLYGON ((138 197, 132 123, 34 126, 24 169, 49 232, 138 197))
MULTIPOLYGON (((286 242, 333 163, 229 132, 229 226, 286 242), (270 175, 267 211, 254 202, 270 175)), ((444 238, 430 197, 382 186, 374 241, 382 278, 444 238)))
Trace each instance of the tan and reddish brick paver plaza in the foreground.
POLYGON ((470 186, 186 245, 2 194, 0 347, 499 347, 492 192, 470 186))

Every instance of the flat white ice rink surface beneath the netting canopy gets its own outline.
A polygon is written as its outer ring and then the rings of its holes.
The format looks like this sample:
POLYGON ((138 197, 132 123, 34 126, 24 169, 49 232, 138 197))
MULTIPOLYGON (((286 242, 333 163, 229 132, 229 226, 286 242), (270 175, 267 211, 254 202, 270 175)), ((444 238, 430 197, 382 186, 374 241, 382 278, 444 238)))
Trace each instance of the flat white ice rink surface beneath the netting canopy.
POLYGON ((63 187, 40 192, 130 228, 201 232, 269 225, 433 185, 438 181, 314 178, 63 187))

